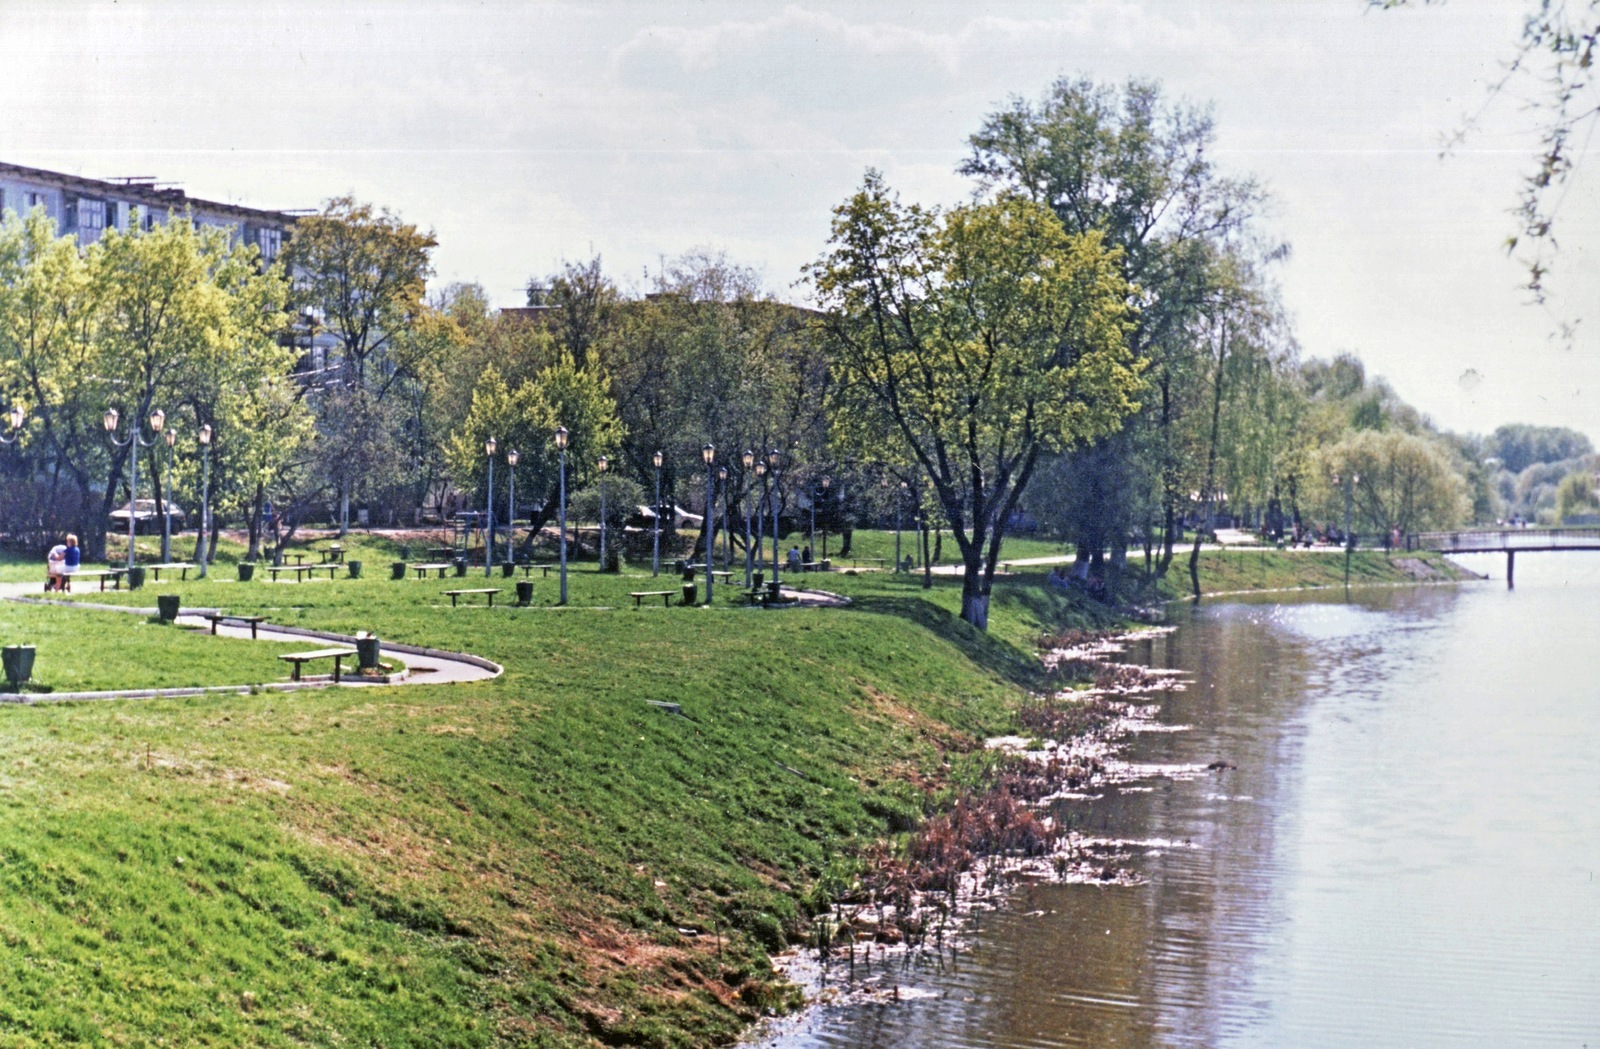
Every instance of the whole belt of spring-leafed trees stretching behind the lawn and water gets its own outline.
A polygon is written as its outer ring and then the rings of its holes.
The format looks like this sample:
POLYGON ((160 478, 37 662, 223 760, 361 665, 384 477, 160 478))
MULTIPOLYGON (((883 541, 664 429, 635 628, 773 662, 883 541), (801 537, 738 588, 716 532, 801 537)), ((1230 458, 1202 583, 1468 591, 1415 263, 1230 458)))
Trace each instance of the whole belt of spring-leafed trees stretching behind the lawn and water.
POLYGON ((1586 437, 1446 433, 1357 357, 1301 358, 1274 285, 1288 246, 1213 139, 1158 85, 1062 78, 971 134, 966 205, 904 201, 869 171, 797 285, 805 305, 693 249, 638 293, 598 257, 568 262, 496 312, 477 285, 430 289, 434 237, 352 198, 302 217, 266 269, 181 216, 80 249, 8 211, 0 409, 26 416, 0 449, 0 529, 26 550, 75 531, 106 555, 130 456, 107 408, 123 432, 165 411, 176 441, 142 453, 141 496, 190 521, 213 427, 216 526, 245 529, 250 556, 269 507, 280 528, 341 529, 482 507, 490 437, 496 505, 520 453, 526 542, 555 512, 558 425, 581 510, 606 456, 621 524, 654 497, 659 451, 662 504, 698 512, 712 445, 741 539, 766 491, 786 529, 813 507, 846 532, 899 510, 960 550, 979 627, 1019 528, 1112 568, 1138 550, 1160 576, 1186 526, 1197 544, 1218 523, 1326 531, 1347 488, 1368 536, 1597 513, 1586 437), (776 470, 757 478, 747 449, 776 470))

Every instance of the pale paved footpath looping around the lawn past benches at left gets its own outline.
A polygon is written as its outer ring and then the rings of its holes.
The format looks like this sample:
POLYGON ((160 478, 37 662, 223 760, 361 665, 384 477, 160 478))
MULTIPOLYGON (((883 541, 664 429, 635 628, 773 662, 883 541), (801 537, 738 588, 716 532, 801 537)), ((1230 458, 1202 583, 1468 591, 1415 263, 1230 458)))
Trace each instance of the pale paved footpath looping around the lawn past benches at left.
MULTIPOLYGON (((37 584, 0 584, 0 600, 18 601, 21 604, 54 604, 58 608, 78 608, 78 609, 94 609, 107 612, 131 612, 136 616, 155 616, 154 608, 131 608, 126 604, 94 604, 90 601, 56 601, 50 598, 34 596, 37 593, 37 584)), ((210 633, 211 624, 202 619, 206 612, 214 612, 218 609, 190 609, 189 612, 181 612, 176 624, 181 627, 195 627, 210 633)), ((251 638, 248 625, 229 625, 219 624, 218 633, 230 638, 251 638)), ((355 646, 355 638, 346 633, 333 633, 328 630, 309 630, 306 627, 282 627, 272 624, 261 624, 256 638, 258 641, 334 641, 339 644, 355 646)), ((339 681, 339 686, 349 688, 371 688, 374 684, 454 684, 459 681, 486 681, 498 678, 504 673, 504 667, 499 664, 483 659, 482 656, 472 656, 470 652, 446 652, 435 648, 424 648, 419 644, 403 644, 398 641, 381 641, 379 656, 390 654, 402 659, 406 665, 405 673, 395 675, 392 680, 373 680, 363 681, 360 678, 347 676, 339 681)), ((13 704, 42 704, 42 702, 62 702, 62 700, 85 700, 85 699, 154 699, 160 696, 203 696, 208 692, 229 692, 229 694, 248 694, 251 691, 275 691, 275 692, 291 692, 307 688, 328 688, 333 681, 330 678, 307 678, 304 681, 264 681, 259 684, 214 684, 202 688, 176 688, 176 689, 112 689, 104 692, 0 692, 0 702, 13 704)))

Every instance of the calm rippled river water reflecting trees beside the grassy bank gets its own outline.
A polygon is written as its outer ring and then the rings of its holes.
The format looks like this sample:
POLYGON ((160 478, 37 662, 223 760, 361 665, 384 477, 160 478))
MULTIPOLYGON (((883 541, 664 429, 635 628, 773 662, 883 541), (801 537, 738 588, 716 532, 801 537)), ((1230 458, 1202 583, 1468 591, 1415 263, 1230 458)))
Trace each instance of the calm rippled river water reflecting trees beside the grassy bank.
MULTIPOLYGON (((1131 886, 1032 884, 965 950, 859 967, 757 1044, 1600 1049, 1600 555, 1213 603, 1128 756, 1230 761, 1067 803, 1131 886)), ((837 977, 837 966, 834 975, 837 977)))

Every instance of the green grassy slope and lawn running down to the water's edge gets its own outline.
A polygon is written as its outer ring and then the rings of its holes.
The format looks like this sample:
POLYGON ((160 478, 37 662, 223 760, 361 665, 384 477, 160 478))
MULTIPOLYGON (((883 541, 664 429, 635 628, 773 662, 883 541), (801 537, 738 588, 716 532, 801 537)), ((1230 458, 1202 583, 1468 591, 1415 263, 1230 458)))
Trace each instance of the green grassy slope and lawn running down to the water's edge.
MULTIPOLYGON (((482 574, 392 582, 392 550, 354 547, 366 579, 240 584, 229 568, 104 598, 370 628, 506 675, 0 710, 8 1036, 723 1043, 786 1001, 765 951, 813 886, 1013 728, 1038 684, 1032 641, 1114 622, 1043 571, 1002 580, 987 635, 955 617, 958 580, 877 572, 805 579, 845 609, 746 609, 728 587, 710 609, 635 611, 629 590, 677 580, 590 566, 565 609, 539 572, 534 608, 453 609, 440 592, 482 574)), ((1310 572, 1302 556, 1318 555, 1294 555, 1310 572)), ((150 644, 102 633, 133 616, 38 614, 109 641, 104 675, 184 660, 168 627, 150 644)), ((42 648, 38 673, 58 659, 42 648)))

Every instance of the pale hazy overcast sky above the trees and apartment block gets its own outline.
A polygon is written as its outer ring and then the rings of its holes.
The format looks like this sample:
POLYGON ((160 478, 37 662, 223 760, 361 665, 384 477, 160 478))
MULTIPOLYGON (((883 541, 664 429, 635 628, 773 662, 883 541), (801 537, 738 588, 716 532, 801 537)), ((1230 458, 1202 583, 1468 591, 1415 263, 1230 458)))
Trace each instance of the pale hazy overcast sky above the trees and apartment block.
POLYGON ((595 254, 645 289, 691 249, 805 301, 867 168, 960 203, 966 138, 1008 99, 1158 80, 1269 190, 1304 355, 1355 353, 1446 429, 1600 445, 1594 165, 1547 305, 1502 249, 1538 139, 1490 88, 1531 2, 0 0, 0 160, 262 208, 354 193, 435 232, 435 288, 496 305, 595 254))

